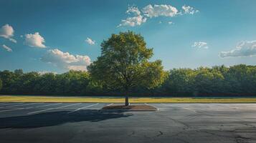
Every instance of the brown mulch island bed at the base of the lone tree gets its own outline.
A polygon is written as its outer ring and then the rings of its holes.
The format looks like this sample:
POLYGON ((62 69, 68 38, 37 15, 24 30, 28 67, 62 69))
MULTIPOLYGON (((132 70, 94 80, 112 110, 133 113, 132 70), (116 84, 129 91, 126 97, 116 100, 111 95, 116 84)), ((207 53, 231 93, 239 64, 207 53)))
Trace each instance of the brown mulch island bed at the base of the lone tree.
POLYGON ((138 105, 110 105, 103 107, 103 109, 109 109, 109 110, 125 110, 125 111, 156 111, 157 109, 155 107, 152 107, 148 104, 138 104, 138 105))

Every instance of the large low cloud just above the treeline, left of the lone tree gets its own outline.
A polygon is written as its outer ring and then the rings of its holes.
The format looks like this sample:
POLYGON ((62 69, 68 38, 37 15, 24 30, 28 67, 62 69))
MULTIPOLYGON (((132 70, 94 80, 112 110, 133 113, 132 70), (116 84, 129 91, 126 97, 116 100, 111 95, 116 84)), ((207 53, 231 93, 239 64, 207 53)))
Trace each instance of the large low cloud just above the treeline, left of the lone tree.
POLYGON ((90 57, 82 55, 72 55, 68 52, 60 51, 59 49, 49 49, 41 61, 54 64, 60 69, 86 71, 90 65, 90 57))

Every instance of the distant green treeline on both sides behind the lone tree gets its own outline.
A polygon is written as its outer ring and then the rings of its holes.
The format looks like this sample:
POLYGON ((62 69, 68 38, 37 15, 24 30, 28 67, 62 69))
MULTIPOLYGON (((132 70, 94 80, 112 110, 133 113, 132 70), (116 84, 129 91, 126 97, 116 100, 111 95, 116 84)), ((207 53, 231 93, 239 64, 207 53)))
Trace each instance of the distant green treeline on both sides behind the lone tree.
MULTIPOLYGON (((240 64, 229 67, 171 69, 166 72, 168 76, 161 86, 154 89, 134 87, 131 93, 141 96, 256 93, 256 66, 240 64)), ((87 71, 68 71, 64 74, 39 74, 35 71, 24 73, 22 69, 0 71, 1 94, 100 96, 121 92, 94 82, 87 71)))

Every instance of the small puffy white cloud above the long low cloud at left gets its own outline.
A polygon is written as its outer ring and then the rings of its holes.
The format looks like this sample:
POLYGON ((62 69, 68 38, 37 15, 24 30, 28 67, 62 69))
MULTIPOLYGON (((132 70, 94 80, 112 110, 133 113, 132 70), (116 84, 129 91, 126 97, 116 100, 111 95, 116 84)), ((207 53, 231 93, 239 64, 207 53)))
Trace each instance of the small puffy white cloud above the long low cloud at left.
POLYGON ((25 44, 32 47, 46 48, 44 45, 44 37, 42 37, 39 32, 34 34, 25 34, 25 44))

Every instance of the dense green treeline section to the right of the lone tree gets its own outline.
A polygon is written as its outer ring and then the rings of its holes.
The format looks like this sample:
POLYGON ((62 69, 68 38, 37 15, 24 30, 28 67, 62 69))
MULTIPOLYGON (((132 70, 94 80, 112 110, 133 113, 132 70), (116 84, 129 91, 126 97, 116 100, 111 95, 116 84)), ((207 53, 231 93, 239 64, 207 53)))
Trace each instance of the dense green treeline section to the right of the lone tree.
POLYGON ((256 93, 256 66, 172 69, 161 92, 256 93))

